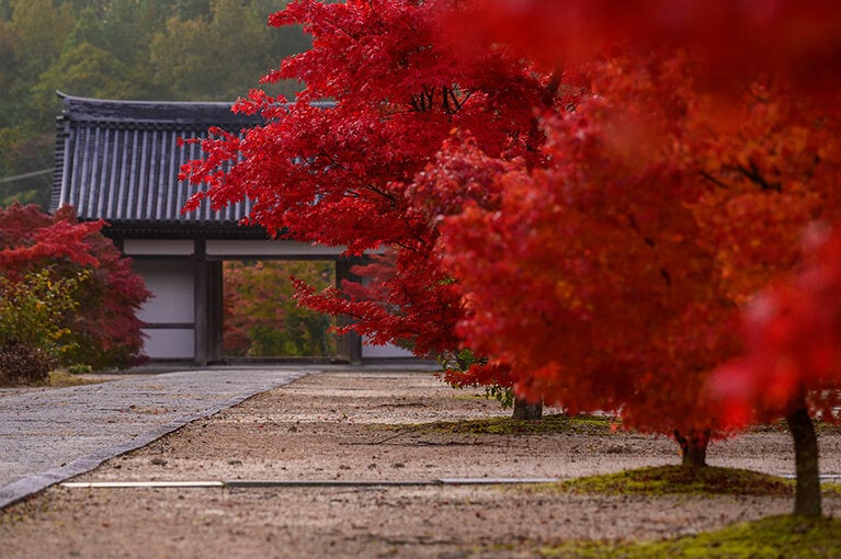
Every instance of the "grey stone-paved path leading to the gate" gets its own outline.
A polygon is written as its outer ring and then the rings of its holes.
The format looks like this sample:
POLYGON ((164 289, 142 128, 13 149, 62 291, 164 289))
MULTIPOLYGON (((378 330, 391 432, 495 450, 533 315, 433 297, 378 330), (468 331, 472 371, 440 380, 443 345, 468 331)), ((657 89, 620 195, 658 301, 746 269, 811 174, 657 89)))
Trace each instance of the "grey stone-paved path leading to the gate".
POLYGON ((0 393, 0 507, 325 368, 214 367, 0 393))

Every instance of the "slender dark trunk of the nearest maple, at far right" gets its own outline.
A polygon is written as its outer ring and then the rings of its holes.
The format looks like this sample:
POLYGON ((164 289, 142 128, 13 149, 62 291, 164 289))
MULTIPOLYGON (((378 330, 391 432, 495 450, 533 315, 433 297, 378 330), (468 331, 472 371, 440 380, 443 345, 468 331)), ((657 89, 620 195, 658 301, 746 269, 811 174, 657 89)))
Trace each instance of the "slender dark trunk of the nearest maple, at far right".
POLYGON ((794 514, 820 516, 820 477, 818 476, 818 436, 811 423, 806 401, 800 398, 796 408, 785 417, 794 440, 794 460, 797 481, 794 493, 794 514))

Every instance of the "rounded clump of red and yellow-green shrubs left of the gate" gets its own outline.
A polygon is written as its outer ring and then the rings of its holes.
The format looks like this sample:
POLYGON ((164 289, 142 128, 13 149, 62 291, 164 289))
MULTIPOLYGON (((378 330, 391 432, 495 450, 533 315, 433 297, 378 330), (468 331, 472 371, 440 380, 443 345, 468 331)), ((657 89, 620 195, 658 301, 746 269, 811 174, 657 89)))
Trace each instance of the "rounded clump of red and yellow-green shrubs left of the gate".
POLYGON ((69 206, 53 216, 0 208, 0 351, 37 349, 98 369, 143 361, 136 311, 150 294, 101 228, 69 206))

